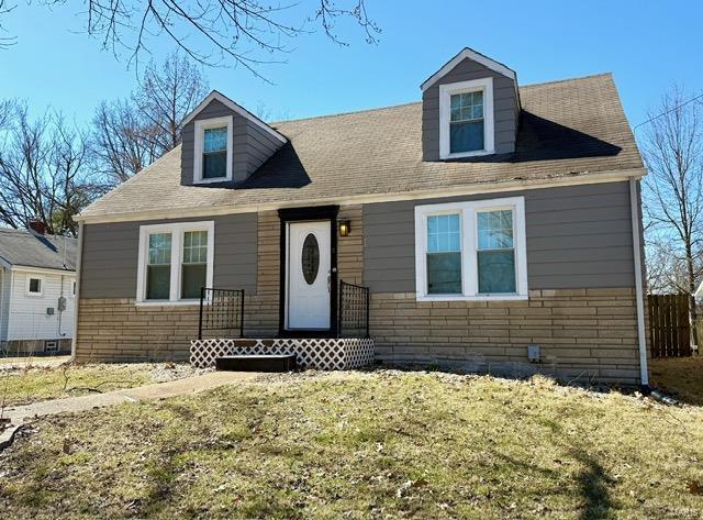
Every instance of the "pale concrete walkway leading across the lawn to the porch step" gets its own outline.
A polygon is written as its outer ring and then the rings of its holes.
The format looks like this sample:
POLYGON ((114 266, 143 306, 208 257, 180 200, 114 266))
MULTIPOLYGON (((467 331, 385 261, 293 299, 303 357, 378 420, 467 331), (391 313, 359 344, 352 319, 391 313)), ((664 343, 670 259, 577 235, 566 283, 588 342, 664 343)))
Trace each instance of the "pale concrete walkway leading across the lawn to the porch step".
POLYGON ((209 372, 199 376, 186 377, 168 383, 155 383, 124 390, 107 391, 104 394, 91 394, 66 399, 53 399, 48 401, 33 402, 5 409, 4 417, 9 418, 12 427, 0 434, 0 450, 12 443, 18 429, 26 419, 56 413, 75 412, 103 408, 123 402, 146 401, 164 399, 167 397, 183 396, 198 391, 210 390, 231 383, 252 380, 260 374, 255 372, 209 372))

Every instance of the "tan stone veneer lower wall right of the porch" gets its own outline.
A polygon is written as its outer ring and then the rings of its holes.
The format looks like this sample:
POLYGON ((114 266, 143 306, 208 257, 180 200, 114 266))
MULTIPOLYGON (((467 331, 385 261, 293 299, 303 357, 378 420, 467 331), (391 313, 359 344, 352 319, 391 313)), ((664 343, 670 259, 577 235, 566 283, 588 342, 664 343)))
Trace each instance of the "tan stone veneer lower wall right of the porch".
POLYGON ((495 302, 373 294, 370 313, 382 361, 639 384, 633 288, 531 290, 529 300, 495 302), (542 363, 528 363, 529 343, 540 346, 542 363))

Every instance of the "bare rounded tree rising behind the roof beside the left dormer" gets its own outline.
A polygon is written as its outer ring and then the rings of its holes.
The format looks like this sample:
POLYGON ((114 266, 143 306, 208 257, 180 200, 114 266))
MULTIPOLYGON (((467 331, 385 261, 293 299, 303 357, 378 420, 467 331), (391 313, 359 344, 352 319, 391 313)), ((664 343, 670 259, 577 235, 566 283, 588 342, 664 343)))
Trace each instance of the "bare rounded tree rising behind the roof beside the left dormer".
POLYGON ((159 154, 178 146, 183 119, 207 95, 208 81, 187 56, 174 52, 163 64, 149 63, 133 99, 146 125, 154 128, 153 146, 159 154))

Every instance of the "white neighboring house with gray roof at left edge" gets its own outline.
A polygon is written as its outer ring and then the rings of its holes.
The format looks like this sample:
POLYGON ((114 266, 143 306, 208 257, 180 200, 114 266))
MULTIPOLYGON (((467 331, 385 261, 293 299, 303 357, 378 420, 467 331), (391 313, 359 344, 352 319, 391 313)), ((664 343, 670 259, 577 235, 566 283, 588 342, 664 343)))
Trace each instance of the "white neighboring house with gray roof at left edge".
POLYGON ((77 240, 0 229, 0 351, 68 352, 74 339, 77 240))

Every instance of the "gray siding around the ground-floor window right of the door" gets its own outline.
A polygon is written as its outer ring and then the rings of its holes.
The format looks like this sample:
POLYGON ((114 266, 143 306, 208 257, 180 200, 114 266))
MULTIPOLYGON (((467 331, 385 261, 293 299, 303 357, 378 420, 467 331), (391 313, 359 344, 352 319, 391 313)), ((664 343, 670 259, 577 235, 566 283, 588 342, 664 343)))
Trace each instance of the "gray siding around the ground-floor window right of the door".
POLYGON ((364 283, 415 291, 414 207, 525 197, 529 289, 634 287, 627 182, 364 206, 364 283))

